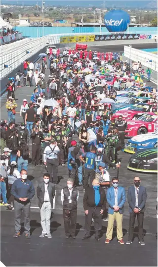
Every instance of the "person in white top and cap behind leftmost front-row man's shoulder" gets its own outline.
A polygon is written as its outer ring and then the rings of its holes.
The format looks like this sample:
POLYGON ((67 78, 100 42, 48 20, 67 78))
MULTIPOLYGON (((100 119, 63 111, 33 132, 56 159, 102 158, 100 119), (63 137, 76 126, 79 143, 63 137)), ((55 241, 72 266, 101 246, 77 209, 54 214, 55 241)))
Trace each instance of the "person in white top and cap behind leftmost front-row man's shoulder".
POLYGON ((14 207, 14 196, 12 196, 10 193, 11 187, 12 187, 14 181, 21 178, 20 172, 17 170, 16 161, 12 161, 10 163, 10 168, 7 171, 7 178, 8 178, 8 189, 9 189, 9 200, 8 200, 9 207, 8 207, 8 209, 12 210, 11 203, 13 203, 13 207, 14 207))

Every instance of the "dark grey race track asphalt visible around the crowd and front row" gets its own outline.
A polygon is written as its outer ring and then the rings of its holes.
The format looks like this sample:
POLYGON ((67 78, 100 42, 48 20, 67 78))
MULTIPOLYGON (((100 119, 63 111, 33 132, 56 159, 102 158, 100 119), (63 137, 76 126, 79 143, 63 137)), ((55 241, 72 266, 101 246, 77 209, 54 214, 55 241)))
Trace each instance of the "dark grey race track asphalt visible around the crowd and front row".
MULTIPOLYGON (((136 45, 138 48, 138 45, 136 45)), ((134 47, 134 45, 133 45, 134 47)), ((135 47, 134 47, 135 48, 135 47)), ((141 45, 139 49, 154 48, 151 44, 148 46, 141 45)), ((93 51, 96 48, 92 48, 93 51)), ((118 51, 123 52, 123 46, 97 47, 97 51, 118 51)), ((46 70, 46 80, 48 79, 48 70, 46 70)), ((150 83, 152 86, 153 84, 150 83)), ((16 123, 20 124, 22 118, 19 115, 20 106, 24 98, 30 100, 34 87, 21 87, 16 90, 17 114, 16 123)), ((0 99, 1 118, 7 119, 5 108, 6 95, 0 99)), ((74 136, 77 139, 77 136, 74 136)), ((29 145, 31 151, 31 145, 29 145)), ((94 240, 94 235, 88 240, 81 240, 84 235, 84 211, 82 205, 83 191, 79 187, 78 217, 77 217, 77 239, 66 240, 64 234, 64 223, 62 216, 62 205, 60 201, 61 189, 66 185, 68 178, 67 166, 58 168, 59 184, 56 186, 55 209, 51 218, 52 239, 39 238, 41 233, 40 214, 38 209, 37 195, 32 199, 31 206, 31 239, 26 239, 24 234, 15 239, 14 233, 14 211, 7 211, 1 208, 1 262, 5 266, 157 266, 157 217, 156 217, 156 200, 157 200, 157 175, 135 173, 126 168, 129 154, 119 152, 118 158, 121 160, 119 170, 119 183, 127 189, 133 183, 133 178, 138 175, 141 178, 141 184, 147 188, 147 204, 144 218, 145 246, 138 244, 138 227, 135 224, 134 242, 128 245, 120 245, 116 237, 116 224, 114 228, 114 240, 111 244, 106 245, 105 233, 108 222, 103 221, 100 242, 94 240)), ((45 172, 43 166, 32 167, 29 164, 28 178, 32 180, 35 189, 45 172)), ((117 175, 116 170, 110 169, 111 177, 117 175)), ((124 241, 128 240, 129 213, 128 203, 125 203, 125 212, 123 214, 123 234, 124 241)), ((24 227, 22 218, 22 231, 24 227)), ((92 223, 92 234, 94 224, 92 223)))

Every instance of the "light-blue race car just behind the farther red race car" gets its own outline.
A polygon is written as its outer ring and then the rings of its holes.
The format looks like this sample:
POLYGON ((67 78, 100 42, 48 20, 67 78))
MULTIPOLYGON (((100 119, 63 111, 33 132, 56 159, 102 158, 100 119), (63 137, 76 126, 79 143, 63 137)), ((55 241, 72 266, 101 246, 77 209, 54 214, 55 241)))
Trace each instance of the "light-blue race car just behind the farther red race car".
POLYGON ((130 98, 123 103, 116 103, 112 105, 112 112, 117 112, 118 110, 127 109, 127 107, 132 107, 134 104, 147 103, 150 98, 130 98))

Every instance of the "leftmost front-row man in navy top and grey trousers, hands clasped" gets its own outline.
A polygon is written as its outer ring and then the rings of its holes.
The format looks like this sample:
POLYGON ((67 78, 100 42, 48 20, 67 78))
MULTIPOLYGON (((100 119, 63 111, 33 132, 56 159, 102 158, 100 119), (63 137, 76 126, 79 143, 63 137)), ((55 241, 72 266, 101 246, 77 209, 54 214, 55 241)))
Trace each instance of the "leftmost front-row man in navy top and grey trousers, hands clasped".
POLYGON ((11 187, 11 195, 14 196, 14 223, 15 234, 13 237, 19 237, 21 234, 21 217, 24 214, 25 237, 30 238, 30 200, 35 195, 35 188, 29 179, 27 179, 27 170, 22 169, 20 179, 16 179, 11 187))

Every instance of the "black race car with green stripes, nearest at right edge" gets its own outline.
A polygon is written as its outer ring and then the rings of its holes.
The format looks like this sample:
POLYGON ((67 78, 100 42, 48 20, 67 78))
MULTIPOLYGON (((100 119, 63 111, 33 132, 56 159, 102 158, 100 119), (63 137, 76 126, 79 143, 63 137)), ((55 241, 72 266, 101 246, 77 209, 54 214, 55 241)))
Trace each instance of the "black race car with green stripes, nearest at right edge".
POLYGON ((129 159, 127 168, 140 172, 158 172, 158 148, 136 152, 129 159))

